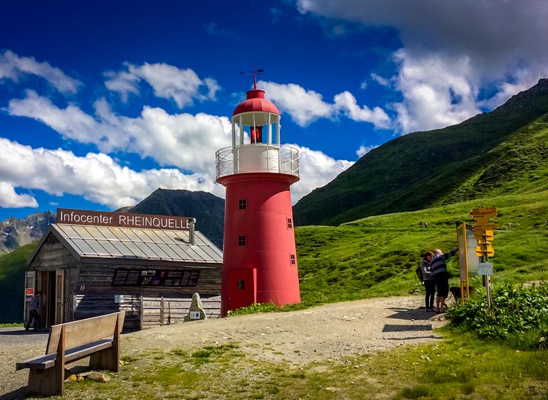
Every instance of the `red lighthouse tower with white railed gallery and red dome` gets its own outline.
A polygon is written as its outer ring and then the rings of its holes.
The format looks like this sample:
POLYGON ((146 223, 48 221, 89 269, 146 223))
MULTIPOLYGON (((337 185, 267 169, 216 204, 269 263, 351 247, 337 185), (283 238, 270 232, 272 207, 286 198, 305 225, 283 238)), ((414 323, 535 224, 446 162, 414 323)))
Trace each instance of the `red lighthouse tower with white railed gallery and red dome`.
POLYGON ((232 115, 232 146, 216 153, 226 187, 221 315, 252 303, 300 303, 290 185, 299 152, 280 144, 280 112, 257 89, 232 115))

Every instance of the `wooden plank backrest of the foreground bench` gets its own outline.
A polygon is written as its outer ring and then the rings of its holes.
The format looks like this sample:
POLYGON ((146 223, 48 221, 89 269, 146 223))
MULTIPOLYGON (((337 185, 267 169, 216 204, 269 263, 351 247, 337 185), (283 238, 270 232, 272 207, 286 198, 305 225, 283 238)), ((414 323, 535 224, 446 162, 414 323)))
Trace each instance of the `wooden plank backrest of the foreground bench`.
POLYGON ((65 349, 85 345, 95 340, 105 339, 114 336, 116 321, 118 321, 118 333, 122 332, 124 326, 125 311, 118 313, 100 315, 98 317, 86 318, 70 323, 53 325, 48 337, 46 355, 57 352, 61 327, 65 326, 65 349))

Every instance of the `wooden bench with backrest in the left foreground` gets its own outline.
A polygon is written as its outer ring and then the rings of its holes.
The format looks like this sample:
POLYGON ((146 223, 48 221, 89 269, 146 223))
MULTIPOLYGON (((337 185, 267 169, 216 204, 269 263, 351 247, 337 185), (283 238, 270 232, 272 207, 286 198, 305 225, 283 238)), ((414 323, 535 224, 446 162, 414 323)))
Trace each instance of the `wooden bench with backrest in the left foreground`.
POLYGON ((90 357, 93 369, 118 372, 120 332, 125 311, 53 325, 46 355, 18 362, 16 371, 29 368, 28 391, 43 396, 63 395, 65 364, 90 357))

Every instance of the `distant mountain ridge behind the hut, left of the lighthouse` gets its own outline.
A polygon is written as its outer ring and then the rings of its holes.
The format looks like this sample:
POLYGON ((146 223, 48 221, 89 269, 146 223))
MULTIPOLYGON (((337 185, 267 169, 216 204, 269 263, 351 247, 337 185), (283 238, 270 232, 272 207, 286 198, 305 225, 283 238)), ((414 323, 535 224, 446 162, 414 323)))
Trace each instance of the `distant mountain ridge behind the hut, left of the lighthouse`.
MULTIPOLYGON (((196 230, 223 248, 224 200, 211 193, 159 188, 139 204, 117 211, 196 218, 196 230)), ((56 217, 55 212, 46 211, 22 219, 9 217, 0 222, 0 254, 40 240, 48 225, 56 222, 56 217)))

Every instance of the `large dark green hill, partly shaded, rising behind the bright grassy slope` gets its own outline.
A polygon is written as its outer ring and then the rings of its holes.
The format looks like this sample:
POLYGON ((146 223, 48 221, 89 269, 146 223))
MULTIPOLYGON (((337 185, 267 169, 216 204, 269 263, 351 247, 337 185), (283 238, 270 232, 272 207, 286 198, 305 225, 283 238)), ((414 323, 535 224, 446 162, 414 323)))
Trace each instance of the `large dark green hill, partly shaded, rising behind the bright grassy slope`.
POLYGON ((548 188, 548 79, 492 112, 400 136, 360 158, 293 207, 295 224, 339 225, 370 215, 548 188))

